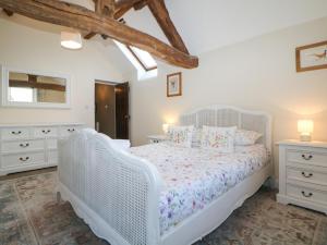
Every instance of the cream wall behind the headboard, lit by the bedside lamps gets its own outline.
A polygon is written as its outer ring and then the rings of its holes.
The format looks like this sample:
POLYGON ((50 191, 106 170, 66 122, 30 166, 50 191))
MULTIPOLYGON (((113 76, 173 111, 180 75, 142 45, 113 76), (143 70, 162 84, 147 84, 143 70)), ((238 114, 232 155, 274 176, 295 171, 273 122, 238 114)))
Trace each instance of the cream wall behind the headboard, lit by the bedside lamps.
MULTIPOLYGON (((204 53, 198 69, 182 70, 181 97, 166 97, 166 75, 179 69, 161 64, 157 78, 134 78, 133 144, 161 133, 164 122, 214 103, 269 112, 275 142, 298 138, 302 118, 315 121, 314 139, 327 140, 327 70, 295 72, 295 47, 326 40, 326 26, 327 17, 204 53)), ((276 167, 277 156, 275 150, 276 167)))

